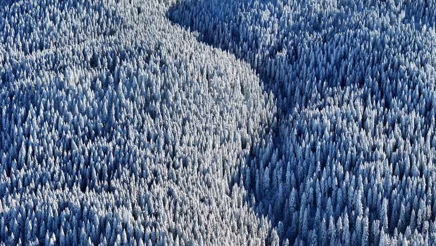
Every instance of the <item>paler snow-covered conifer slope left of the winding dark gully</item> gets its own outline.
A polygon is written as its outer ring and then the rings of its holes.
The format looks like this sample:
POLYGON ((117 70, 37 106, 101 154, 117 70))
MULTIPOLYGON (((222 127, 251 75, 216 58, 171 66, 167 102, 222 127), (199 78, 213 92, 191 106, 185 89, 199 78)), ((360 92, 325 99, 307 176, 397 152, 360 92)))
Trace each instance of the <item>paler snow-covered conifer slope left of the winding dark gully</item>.
POLYGON ((2 4, 2 245, 269 242, 244 177, 274 107, 169 6, 2 4))

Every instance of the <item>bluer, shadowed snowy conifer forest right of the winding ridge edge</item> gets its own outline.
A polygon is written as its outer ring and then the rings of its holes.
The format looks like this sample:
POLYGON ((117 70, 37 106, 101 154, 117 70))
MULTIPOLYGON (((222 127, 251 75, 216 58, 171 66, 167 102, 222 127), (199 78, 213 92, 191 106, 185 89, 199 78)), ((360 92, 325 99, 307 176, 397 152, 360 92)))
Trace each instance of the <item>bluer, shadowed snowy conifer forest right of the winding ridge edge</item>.
POLYGON ((435 243, 435 8, 183 1, 168 13, 274 95, 278 127, 253 146, 246 190, 281 242, 435 243))

